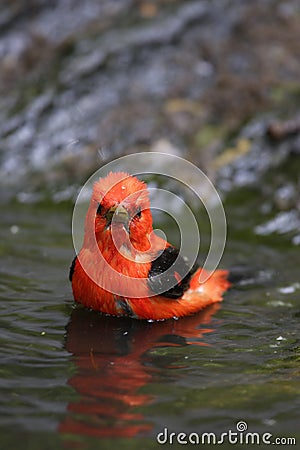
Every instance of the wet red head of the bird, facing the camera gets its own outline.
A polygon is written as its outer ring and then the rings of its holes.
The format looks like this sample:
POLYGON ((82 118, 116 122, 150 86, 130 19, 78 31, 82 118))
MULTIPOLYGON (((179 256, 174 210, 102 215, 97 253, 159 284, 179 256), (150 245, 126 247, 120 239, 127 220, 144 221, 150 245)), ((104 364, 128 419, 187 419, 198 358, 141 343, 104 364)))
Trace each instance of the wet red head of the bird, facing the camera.
POLYGON ((112 234, 121 246, 129 242, 146 251, 152 231, 147 186, 125 172, 110 172, 94 184, 86 229, 93 227, 98 244, 107 245, 112 234))

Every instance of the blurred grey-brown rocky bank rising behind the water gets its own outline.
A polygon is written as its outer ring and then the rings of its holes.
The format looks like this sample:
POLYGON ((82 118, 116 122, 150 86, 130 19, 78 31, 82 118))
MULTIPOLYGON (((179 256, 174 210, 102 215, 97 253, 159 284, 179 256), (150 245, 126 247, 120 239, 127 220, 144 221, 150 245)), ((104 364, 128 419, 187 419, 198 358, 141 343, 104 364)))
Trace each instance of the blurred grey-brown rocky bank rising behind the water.
POLYGON ((296 0, 3 0, 0 26, 0 180, 21 201, 135 151, 228 189, 299 154, 296 0))

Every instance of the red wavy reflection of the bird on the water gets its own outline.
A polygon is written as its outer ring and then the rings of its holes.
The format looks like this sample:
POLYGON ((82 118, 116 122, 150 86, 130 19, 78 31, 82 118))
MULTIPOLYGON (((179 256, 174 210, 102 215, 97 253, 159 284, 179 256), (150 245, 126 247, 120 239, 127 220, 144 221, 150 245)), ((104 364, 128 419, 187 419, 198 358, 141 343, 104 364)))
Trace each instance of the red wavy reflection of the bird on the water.
POLYGON ((213 330, 203 325, 210 323, 218 308, 215 304, 195 316, 153 323, 74 309, 65 345, 77 368, 69 385, 79 398, 68 405, 60 425, 60 432, 69 436, 69 445, 70 435, 132 437, 149 432, 151 424, 136 407, 153 398, 141 388, 157 381, 161 367, 170 364, 168 358, 166 364, 158 365, 151 350, 207 345, 201 337, 213 330))

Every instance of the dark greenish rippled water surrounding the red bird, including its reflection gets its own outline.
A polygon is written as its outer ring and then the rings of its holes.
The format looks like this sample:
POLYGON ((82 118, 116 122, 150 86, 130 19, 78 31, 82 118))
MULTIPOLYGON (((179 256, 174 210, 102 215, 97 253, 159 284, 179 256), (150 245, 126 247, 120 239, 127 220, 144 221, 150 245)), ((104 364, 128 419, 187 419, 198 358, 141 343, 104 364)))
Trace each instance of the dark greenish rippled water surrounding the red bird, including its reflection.
POLYGON ((299 246, 253 231, 261 202, 244 189, 225 205, 222 265, 246 265, 242 281, 161 323, 74 309, 71 204, 3 206, 2 448, 155 448, 164 427, 220 434, 240 420, 299 441, 299 246))

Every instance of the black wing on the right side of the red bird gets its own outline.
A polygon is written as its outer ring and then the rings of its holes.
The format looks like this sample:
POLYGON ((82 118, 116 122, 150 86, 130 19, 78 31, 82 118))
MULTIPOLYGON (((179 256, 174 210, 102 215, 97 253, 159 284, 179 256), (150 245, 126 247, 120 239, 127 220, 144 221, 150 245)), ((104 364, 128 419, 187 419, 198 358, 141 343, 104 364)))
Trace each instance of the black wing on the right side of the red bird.
POLYGON ((151 263, 148 285, 158 295, 167 298, 180 298, 189 288, 191 276, 196 268, 194 266, 189 270, 187 262, 182 256, 179 256, 179 250, 175 247, 166 247, 158 258, 151 263), (164 275, 164 272, 170 267, 172 267, 172 270, 164 275), (170 285, 174 286, 169 288, 170 285))

